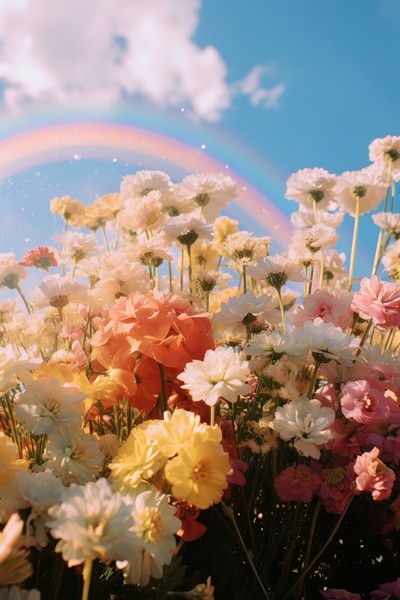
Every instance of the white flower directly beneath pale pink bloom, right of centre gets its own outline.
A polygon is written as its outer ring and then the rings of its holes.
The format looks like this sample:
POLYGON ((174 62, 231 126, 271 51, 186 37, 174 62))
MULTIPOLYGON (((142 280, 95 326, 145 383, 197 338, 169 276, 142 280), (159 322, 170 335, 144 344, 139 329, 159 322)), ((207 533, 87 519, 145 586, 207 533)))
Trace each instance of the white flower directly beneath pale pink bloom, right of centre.
POLYGON ((302 343, 317 360, 328 362, 337 360, 351 363, 359 348, 359 338, 347 335, 333 323, 325 323, 321 318, 307 321, 303 330, 295 330, 298 342, 302 343))

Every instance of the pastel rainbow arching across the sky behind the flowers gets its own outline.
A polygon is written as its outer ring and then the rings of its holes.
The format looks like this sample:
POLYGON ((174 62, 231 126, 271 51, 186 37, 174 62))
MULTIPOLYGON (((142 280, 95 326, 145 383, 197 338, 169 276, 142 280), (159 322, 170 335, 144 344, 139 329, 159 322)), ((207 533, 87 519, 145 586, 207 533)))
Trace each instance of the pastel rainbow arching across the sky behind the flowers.
POLYGON ((200 172, 229 173, 245 188, 236 202, 245 215, 271 235, 281 248, 287 246, 292 234, 288 217, 271 197, 237 171, 209 156, 204 148, 133 125, 78 120, 14 134, 8 132, 0 140, 0 180, 31 167, 73 158, 126 161, 134 165, 135 170, 160 169, 172 177, 200 172))

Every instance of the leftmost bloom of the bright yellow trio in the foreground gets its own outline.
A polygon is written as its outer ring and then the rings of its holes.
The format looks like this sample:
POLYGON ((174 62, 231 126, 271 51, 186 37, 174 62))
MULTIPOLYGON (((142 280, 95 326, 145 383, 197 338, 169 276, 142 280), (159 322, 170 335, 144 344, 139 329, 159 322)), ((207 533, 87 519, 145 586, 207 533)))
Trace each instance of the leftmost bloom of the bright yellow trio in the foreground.
POLYGON ((110 479, 121 492, 129 492, 143 480, 149 480, 163 467, 165 458, 155 440, 149 439, 147 429, 154 421, 146 421, 132 429, 126 442, 120 447, 108 465, 110 479))

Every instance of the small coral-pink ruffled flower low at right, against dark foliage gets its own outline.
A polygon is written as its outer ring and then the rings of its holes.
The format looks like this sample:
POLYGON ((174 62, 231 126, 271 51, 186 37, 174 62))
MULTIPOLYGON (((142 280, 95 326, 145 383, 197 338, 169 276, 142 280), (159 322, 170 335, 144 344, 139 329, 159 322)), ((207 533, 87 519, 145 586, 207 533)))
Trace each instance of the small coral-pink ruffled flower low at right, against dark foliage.
POLYGON ((371 452, 357 456, 354 464, 356 485, 360 492, 371 492, 374 500, 386 500, 391 494, 396 475, 378 456, 379 449, 376 447, 371 452))

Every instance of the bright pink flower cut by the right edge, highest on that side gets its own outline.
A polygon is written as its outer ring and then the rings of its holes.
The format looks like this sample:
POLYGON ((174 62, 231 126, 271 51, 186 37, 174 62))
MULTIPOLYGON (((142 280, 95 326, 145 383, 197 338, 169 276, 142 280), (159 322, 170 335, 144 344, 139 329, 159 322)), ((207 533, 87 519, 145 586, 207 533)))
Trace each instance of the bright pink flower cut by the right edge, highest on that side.
POLYGON ((388 329, 400 325, 400 286, 382 281, 377 275, 361 280, 360 291, 354 293, 352 310, 362 319, 388 329))

